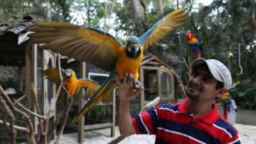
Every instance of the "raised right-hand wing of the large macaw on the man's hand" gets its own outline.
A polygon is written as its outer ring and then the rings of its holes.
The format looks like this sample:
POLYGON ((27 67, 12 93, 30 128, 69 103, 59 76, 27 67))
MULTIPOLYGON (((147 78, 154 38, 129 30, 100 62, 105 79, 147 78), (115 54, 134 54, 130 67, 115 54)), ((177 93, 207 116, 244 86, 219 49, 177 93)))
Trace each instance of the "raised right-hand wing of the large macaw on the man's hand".
POLYGON ((158 42, 161 38, 164 38, 167 33, 182 26, 180 22, 185 20, 186 17, 187 13, 184 8, 169 13, 139 37, 140 44, 143 45, 144 49, 147 49, 154 42, 158 42))

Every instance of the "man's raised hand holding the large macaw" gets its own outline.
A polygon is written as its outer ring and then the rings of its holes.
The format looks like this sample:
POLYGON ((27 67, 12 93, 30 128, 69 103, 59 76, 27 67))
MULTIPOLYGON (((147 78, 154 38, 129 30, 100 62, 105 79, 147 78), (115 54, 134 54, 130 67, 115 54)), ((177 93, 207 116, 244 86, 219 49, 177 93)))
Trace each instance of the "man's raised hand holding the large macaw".
POLYGON ((134 89, 133 86, 133 75, 125 73, 123 83, 115 76, 115 81, 118 85, 118 97, 120 101, 129 102, 132 99, 138 97, 140 92, 144 89, 143 86, 139 86, 134 89))

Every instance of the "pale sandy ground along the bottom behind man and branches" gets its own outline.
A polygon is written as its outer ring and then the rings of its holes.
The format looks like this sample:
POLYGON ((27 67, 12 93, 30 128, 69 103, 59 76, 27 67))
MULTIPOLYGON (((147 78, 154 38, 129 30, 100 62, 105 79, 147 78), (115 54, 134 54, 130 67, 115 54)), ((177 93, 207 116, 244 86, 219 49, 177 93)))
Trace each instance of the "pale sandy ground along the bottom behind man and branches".
MULTIPOLYGON (((254 125, 244 125, 235 124, 234 127, 239 131, 239 137, 241 143, 246 144, 256 144, 256 126, 254 125)), ((95 131, 84 132, 84 142, 83 144, 106 144, 114 138, 118 137, 119 130, 116 127, 115 137, 110 137, 110 129, 102 129, 95 131)), ((149 136, 145 134, 132 135, 120 142, 120 144, 154 144, 155 136, 149 136)), ((77 143, 77 133, 63 134, 60 143, 62 144, 76 144, 77 143)))

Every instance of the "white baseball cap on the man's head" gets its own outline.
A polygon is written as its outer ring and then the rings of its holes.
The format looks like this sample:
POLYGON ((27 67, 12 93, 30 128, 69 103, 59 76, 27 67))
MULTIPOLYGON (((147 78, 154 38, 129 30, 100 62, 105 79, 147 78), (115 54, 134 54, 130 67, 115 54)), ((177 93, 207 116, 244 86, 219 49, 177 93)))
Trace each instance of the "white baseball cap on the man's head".
POLYGON ((232 77, 228 68, 218 60, 198 58, 191 63, 191 68, 194 69, 198 65, 206 63, 212 76, 224 84, 224 87, 229 89, 232 86, 232 77))

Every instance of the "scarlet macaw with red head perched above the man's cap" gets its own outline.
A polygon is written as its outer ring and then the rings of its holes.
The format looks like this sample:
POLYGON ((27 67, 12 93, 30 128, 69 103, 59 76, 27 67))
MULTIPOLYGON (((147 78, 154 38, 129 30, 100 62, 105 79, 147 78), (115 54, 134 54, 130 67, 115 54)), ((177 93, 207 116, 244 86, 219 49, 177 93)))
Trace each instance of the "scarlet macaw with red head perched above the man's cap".
POLYGON ((186 33, 187 44, 191 49, 196 52, 196 58, 201 58, 202 48, 200 47, 200 42, 192 33, 186 33))

